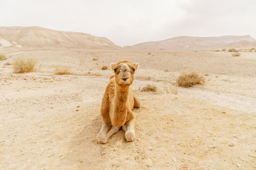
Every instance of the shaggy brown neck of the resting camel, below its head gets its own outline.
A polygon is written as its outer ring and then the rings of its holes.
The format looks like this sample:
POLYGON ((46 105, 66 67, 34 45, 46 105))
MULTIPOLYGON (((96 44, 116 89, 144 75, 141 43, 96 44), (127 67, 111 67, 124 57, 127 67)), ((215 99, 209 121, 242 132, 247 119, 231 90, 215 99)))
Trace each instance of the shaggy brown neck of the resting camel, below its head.
POLYGON ((126 86, 115 86, 115 97, 113 112, 110 114, 111 122, 113 126, 122 126, 125 123, 127 115, 127 101, 130 87, 126 86))

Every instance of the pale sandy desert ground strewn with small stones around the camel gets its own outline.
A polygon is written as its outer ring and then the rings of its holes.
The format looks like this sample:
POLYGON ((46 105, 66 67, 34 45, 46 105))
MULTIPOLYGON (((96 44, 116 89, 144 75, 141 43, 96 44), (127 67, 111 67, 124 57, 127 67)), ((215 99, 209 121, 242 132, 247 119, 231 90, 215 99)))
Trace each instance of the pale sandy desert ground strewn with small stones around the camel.
POLYGON ((1 48, 0 169, 2 170, 255 170, 256 52, 1 48), (38 60, 36 72, 4 66, 19 55, 38 60), (97 60, 93 61, 93 57, 97 60), (141 100, 136 139, 123 131, 95 140, 111 70, 139 62, 132 88, 141 100), (54 75, 56 65, 72 75, 54 75), (204 85, 178 87, 184 71, 207 74, 204 85), (142 92, 147 84, 157 92, 142 92), (231 143, 234 146, 229 146, 231 143))

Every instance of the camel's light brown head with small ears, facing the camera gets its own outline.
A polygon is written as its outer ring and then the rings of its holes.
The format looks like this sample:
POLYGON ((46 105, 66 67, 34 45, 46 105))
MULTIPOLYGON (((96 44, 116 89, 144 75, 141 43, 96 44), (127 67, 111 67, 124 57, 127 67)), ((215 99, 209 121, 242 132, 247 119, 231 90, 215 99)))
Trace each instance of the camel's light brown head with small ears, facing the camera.
POLYGON ((129 60, 120 60, 117 64, 111 63, 111 69, 115 72, 115 81, 118 85, 131 85, 133 74, 138 70, 138 63, 131 63, 129 60))

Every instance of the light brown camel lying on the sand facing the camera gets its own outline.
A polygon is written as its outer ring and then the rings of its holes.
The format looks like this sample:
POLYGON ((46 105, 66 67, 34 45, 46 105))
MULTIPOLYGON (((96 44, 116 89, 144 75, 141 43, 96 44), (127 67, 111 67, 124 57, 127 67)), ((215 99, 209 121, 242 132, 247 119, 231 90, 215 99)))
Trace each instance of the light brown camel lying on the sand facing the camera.
POLYGON ((105 144, 111 135, 122 128, 125 139, 132 142, 135 138, 136 116, 133 107, 140 108, 140 100, 134 94, 130 85, 133 83, 133 74, 138 70, 138 63, 129 60, 120 60, 117 64, 111 63, 115 72, 110 77, 101 103, 102 126, 96 139, 98 143, 105 144))

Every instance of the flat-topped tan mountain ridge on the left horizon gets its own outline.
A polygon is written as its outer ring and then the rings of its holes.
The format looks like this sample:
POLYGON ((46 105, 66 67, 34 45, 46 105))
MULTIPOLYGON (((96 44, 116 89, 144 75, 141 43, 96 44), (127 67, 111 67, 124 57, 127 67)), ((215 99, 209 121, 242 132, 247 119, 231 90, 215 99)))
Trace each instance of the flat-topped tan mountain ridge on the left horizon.
POLYGON ((106 37, 81 32, 65 32, 42 27, 0 27, 0 47, 84 47, 88 49, 119 49, 106 37))

